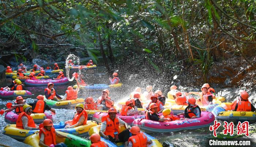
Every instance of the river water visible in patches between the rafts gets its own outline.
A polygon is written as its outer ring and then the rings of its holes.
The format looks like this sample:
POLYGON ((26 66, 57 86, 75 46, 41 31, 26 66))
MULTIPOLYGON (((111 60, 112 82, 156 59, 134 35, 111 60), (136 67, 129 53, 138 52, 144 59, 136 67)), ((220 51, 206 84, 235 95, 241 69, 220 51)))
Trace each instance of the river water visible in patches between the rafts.
MULTIPOLYGON (((91 70, 83 70, 82 74, 84 76, 85 82, 87 84, 109 84, 109 76, 105 73, 105 67, 99 66, 96 69, 91 70)), ((69 75, 71 76, 72 73, 74 73, 74 70, 71 70, 69 75)), ((125 74, 124 74, 125 75, 125 74)), ((127 75, 127 74, 126 74, 127 75)), ((57 75, 54 75, 57 76, 57 75)), ((110 91, 110 97, 114 100, 114 102, 117 102, 118 100, 121 100, 123 98, 128 98, 129 94, 136 88, 141 87, 142 92, 146 91, 146 84, 150 83, 148 80, 152 80, 148 77, 143 77, 143 75, 129 75, 125 77, 120 76, 120 81, 123 83, 123 86, 120 88, 113 88, 109 89, 110 91)), ((4 87, 6 85, 10 84, 10 79, 7 79, 6 83, 2 83, 0 86, 4 87)), ((157 84, 157 80, 152 80, 151 85, 153 85, 153 90, 160 89, 163 91, 163 95, 167 97, 167 92, 169 91, 169 88, 171 85, 168 86, 158 86, 154 87, 154 85, 157 84)), ((68 86, 75 85, 75 81, 69 82, 67 85, 57 85, 54 86, 54 89, 56 92, 60 95, 65 94, 65 90, 68 86)), ((29 90, 31 93, 33 93, 33 97, 26 99, 26 102, 32 102, 34 101, 35 97, 39 94, 44 94, 44 89, 46 87, 44 86, 37 86, 37 87, 26 87, 27 90, 29 90)), ((195 91, 198 89, 195 88, 188 88, 188 87, 179 87, 182 91, 195 91)), ((239 89, 218 89, 215 88, 218 92, 218 96, 224 96, 226 97, 227 102, 231 102, 238 94, 239 89)), ((97 100, 99 96, 101 96, 101 90, 80 90, 79 91, 79 97, 80 98, 86 98, 88 96, 91 96, 94 98, 94 100, 97 100)), ((14 100, 13 100, 14 101, 14 100)), ((10 100, 1 100, 0 99, 0 109, 5 109, 5 104, 7 102, 10 102, 10 100)), ((74 117, 75 109, 74 107, 70 109, 55 109, 56 110, 56 116, 54 119, 54 123, 59 123, 60 121, 66 121, 70 120, 74 117)), ((50 113, 50 112, 49 112, 50 113)), ((223 122, 222 122, 223 124, 223 122)), ((4 115, 0 116, 0 133, 3 132, 4 127, 8 125, 4 121, 4 115)), ((222 127, 218 129, 218 132, 222 131, 222 127)), ((167 141, 168 143, 179 143, 178 146, 187 146, 187 138, 192 138, 195 140, 199 140, 197 143, 193 143, 194 146, 204 146, 206 144, 206 141, 203 138, 212 138, 212 132, 209 131, 209 128, 200 128, 195 130, 184 130, 179 132, 169 132, 169 133, 153 133, 150 134, 157 138, 161 143, 167 141)), ((171 144, 170 144, 171 145, 171 144)), ((176 144, 177 146, 177 144, 176 144)))

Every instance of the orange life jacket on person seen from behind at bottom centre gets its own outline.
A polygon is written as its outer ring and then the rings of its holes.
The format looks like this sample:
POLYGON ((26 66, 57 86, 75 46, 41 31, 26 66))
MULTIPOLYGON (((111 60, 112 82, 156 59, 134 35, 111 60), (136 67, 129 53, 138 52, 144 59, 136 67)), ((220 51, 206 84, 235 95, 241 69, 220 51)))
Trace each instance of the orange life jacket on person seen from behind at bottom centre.
POLYGON ((146 147, 147 137, 141 132, 138 135, 131 136, 128 142, 132 142, 132 147, 146 147))

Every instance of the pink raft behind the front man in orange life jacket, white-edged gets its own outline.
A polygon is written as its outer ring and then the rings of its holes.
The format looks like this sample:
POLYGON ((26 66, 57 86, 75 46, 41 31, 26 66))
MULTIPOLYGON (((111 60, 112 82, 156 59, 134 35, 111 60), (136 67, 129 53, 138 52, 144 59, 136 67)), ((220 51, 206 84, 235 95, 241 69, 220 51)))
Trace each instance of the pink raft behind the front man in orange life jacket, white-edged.
MULTIPOLYGON (((93 120, 96 121, 97 123, 101 123, 101 118, 106 115, 108 115, 108 113, 96 112, 93 115, 93 120)), ((120 113, 117 113, 116 116, 119 117, 121 120, 123 120, 128 125, 132 125, 132 122, 135 119, 145 119, 146 118, 145 115, 120 116, 120 113)))

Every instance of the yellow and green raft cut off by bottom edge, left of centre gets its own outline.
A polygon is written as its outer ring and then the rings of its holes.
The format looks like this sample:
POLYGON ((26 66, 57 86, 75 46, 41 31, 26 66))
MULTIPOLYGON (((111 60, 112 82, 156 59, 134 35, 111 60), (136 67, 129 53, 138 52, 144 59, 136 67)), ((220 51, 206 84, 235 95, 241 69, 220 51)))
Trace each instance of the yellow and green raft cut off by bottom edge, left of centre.
MULTIPOLYGON (((91 141, 90 140, 86 140, 83 138, 80 138, 78 136, 72 135, 72 134, 68 134, 68 133, 64 133, 64 132, 60 132, 57 131, 59 134, 64 135, 64 136, 68 136, 73 138, 72 140, 69 140, 67 138, 59 138, 58 136, 56 136, 56 143, 65 143, 68 147, 90 147, 91 146, 91 141)), ((39 132, 28 136, 25 140, 24 143, 33 146, 33 147, 40 147, 39 146, 39 132)))

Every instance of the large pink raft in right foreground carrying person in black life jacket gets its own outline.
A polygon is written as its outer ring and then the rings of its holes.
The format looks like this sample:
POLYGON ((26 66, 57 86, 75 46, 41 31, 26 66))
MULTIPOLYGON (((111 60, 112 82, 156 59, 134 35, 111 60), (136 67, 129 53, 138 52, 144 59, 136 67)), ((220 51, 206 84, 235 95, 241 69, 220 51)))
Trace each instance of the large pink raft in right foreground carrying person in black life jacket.
MULTIPOLYGON (((176 116, 183 117, 183 116, 176 116)), ((132 125, 138 126, 145 132, 174 132, 184 129, 198 129, 214 124, 215 117, 211 112, 202 112, 200 118, 159 122, 146 119, 136 119, 132 125)))

